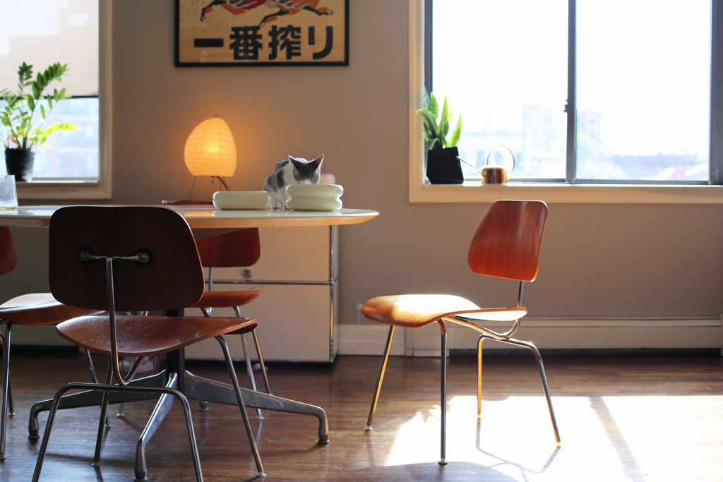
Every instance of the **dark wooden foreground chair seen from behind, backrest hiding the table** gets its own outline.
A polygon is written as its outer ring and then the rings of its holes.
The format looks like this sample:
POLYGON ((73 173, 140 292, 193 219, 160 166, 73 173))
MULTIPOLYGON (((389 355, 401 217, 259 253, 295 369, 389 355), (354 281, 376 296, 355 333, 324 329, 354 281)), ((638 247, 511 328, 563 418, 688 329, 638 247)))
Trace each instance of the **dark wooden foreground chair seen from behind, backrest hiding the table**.
POLYGON ((183 374, 168 374, 166 387, 143 387, 133 384, 132 379, 146 356, 169 353, 210 337, 221 344, 258 475, 265 475, 222 336, 251 331, 256 320, 116 315, 116 311, 183 309, 201 298, 203 271, 193 235, 181 215, 163 207, 74 206, 57 210, 50 223, 50 285, 59 301, 108 310, 106 316, 63 322, 57 331, 75 345, 110 355, 110 366, 105 384, 69 383, 56 393, 33 473, 34 482, 40 476, 61 396, 78 388, 103 392, 94 465, 100 460, 110 392, 158 393, 179 400, 186 418, 196 478, 201 482, 189 403, 175 388, 178 376, 183 374), (137 357, 128 376, 121 374, 121 356, 137 357))

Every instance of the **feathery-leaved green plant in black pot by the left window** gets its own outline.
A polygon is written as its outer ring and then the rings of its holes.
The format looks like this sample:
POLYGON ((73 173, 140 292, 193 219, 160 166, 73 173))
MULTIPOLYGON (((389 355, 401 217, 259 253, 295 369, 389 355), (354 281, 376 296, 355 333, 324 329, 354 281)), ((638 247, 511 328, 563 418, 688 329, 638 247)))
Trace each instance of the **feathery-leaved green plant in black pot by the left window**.
POLYGON ((43 91, 54 80, 60 82, 67 69, 67 64, 53 64, 45 72, 38 72, 33 80, 33 66, 23 62, 17 70, 17 92, 0 90, 0 122, 7 129, 2 138, 5 164, 7 173, 14 174, 16 181, 30 181, 33 178, 33 147, 47 147, 43 143, 54 132, 77 129, 77 125, 67 122, 56 122, 45 127, 54 106, 70 96, 65 95, 65 89, 54 89, 52 94, 44 96, 43 91), (30 87, 31 92, 25 93, 25 87, 30 87), (47 110, 42 104, 43 100, 47 103, 47 110), (40 119, 33 119, 33 113, 38 107, 40 119))

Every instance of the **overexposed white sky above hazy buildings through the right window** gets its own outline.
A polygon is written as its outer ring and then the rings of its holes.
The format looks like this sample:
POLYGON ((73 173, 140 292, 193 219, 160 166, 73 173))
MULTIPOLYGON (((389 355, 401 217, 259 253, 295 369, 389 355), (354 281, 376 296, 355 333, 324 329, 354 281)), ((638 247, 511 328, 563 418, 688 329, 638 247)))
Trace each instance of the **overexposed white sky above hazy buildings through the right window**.
MULTIPOLYGON (((602 150, 707 154, 710 1, 577 4, 578 110, 603 113, 602 150)), ((562 112, 567 0, 434 5, 434 91, 463 133, 521 132, 523 105, 562 112)))

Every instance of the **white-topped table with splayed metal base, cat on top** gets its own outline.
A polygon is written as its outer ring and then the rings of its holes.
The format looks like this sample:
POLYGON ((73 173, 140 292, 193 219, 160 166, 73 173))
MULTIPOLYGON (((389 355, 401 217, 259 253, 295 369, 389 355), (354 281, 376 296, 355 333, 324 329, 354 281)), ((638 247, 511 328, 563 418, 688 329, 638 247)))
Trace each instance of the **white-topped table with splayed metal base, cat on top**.
MULTIPOLYGON (((61 205, 46 206, 20 206, 15 210, 0 210, 0 226, 15 228, 48 228, 53 213, 61 205)), ((244 228, 270 228, 293 226, 334 226, 365 223, 379 215, 371 210, 341 209, 335 212, 294 211, 294 210, 219 210, 213 206, 200 205, 164 205, 167 209, 179 212, 189 223, 196 238, 205 238, 244 228)), ((333 230, 330 228, 330 236, 333 230)), ((333 241, 333 240, 332 240, 333 241)), ((333 246, 333 243, 331 244, 333 246)), ((181 310, 182 312, 182 310, 181 310)), ((168 313, 174 314, 174 313, 168 313)), ((178 314, 178 311, 175 313, 178 314)), ((207 402, 236 405, 236 392, 230 384, 215 382, 191 374, 185 370, 184 350, 179 350, 173 356, 168 354, 168 372, 183 374, 176 387, 188 398, 207 402)), ((136 379, 132 384, 140 386, 165 386, 168 377, 161 372, 136 379)), ((79 392, 62 397, 59 408, 80 408, 97 406, 101 402, 101 392, 79 392)), ((314 416, 319 421, 318 443, 329 442, 328 420, 325 411, 316 405, 288 400, 263 392, 255 392, 242 388, 241 395, 247 408, 261 408, 286 413, 314 416)), ((111 393, 110 403, 124 403, 149 398, 143 394, 111 393)), ((145 465, 145 445, 153 436, 158 426, 173 403, 173 397, 161 395, 153 410, 150 420, 139 438, 136 449, 135 476, 137 480, 145 478, 147 473, 145 465)), ((30 438, 38 437, 38 413, 50 410, 52 400, 43 400, 35 403, 30 409, 28 431, 30 438)))

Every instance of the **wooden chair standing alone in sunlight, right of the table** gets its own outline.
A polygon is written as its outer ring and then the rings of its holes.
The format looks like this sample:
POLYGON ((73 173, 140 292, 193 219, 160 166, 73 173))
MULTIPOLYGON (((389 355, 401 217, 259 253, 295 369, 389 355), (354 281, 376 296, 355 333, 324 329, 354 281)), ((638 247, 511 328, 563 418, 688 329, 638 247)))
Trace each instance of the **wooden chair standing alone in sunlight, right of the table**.
POLYGON ((547 378, 539 351, 532 343, 515 340, 512 335, 520 326, 520 318, 527 313, 522 307, 522 291, 525 281, 534 281, 539 269, 539 251, 542 233, 547 222, 547 205, 541 201, 497 201, 490 205, 479 220, 469 246, 468 262, 472 271, 479 275, 495 276, 520 282, 517 306, 514 308, 483 309, 465 298, 453 295, 401 295, 372 298, 361 309, 364 316, 375 322, 391 325, 382 360, 377 388, 372 398, 366 430, 372 430, 372 421, 387 367, 389 349, 395 327, 420 328, 437 322, 442 329, 442 382, 441 382, 441 457, 445 465, 445 423, 447 407, 447 324, 452 322, 470 327, 481 333, 477 341, 477 416, 482 411, 482 342, 497 340, 510 345, 529 348, 539 367, 542 387, 547 397, 552 428, 557 447, 560 432, 557 430, 555 412, 547 387, 547 378), (476 324, 478 320, 513 322, 510 329, 500 333, 476 324))

